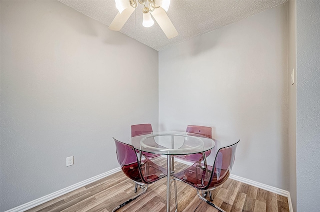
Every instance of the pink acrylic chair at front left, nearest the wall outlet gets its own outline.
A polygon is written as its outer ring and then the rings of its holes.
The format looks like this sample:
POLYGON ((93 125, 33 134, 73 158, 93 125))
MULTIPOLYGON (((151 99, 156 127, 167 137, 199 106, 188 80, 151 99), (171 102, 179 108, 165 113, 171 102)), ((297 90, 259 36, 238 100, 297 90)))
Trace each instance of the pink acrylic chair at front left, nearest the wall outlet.
POLYGON ((112 212, 135 200, 141 194, 146 192, 149 184, 166 176, 166 169, 154 164, 148 158, 144 158, 139 161, 133 146, 122 143, 116 139, 114 139, 114 142, 116 148, 116 157, 122 172, 129 179, 135 182, 135 184, 139 185, 142 189, 142 192, 117 206, 112 210, 112 212))

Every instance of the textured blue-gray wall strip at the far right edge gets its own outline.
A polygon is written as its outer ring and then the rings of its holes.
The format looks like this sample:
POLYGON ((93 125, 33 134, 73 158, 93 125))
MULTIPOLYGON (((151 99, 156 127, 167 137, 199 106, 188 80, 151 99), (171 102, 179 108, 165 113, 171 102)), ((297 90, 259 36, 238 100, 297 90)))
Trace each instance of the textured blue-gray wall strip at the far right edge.
POLYGON ((296 1, 297 212, 320 211, 320 1, 296 1))

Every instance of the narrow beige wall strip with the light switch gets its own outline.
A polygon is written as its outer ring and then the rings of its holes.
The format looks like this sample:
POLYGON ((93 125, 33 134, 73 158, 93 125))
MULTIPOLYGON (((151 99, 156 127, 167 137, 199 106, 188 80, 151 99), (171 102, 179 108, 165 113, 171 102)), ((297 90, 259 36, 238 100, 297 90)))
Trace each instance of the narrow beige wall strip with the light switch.
POLYGON ((295 49, 295 6, 296 0, 288 1, 288 110, 289 110, 289 192, 293 211, 296 212, 296 49, 295 49), (291 73, 294 69, 294 84, 291 73))

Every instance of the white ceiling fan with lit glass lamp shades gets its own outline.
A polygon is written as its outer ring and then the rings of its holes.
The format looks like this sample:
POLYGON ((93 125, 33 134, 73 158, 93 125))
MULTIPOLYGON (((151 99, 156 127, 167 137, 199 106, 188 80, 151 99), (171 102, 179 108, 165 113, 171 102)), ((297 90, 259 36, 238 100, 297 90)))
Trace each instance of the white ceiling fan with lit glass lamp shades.
POLYGON ((109 29, 114 31, 119 31, 124 23, 129 19, 130 15, 133 13, 134 9, 137 7, 138 3, 142 4, 144 7, 142 9, 144 27, 150 27, 153 25, 154 21, 159 24, 160 28, 166 35, 168 39, 171 39, 178 35, 175 27, 173 26, 171 20, 169 19, 166 11, 169 8, 170 0, 114 0, 115 6, 118 9, 118 13, 115 15, 109 29), (147 5, 148 4, 148 5, 147 5))

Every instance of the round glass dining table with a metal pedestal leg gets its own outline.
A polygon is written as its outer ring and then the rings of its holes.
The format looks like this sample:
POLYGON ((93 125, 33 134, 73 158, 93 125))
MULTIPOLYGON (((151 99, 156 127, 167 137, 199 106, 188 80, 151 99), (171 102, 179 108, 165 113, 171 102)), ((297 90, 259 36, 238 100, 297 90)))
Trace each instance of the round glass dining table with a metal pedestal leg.
POLYGON ((171 171, 174 170, 174 155, 202 154, 212 149, 214 141, 205 136, 187 132, 153 132, 131 137, 128 141, 135 149, 167 156, 166 212, 170 212, 171 171))

